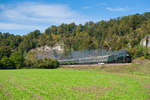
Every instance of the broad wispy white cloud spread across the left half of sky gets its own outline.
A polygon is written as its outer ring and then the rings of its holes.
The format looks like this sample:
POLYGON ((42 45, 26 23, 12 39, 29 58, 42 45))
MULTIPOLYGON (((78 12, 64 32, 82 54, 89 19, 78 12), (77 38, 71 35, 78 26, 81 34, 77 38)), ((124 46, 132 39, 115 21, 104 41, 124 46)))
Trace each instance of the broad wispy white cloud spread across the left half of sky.
POLYGON ((39 4, 22 3, 9 6, 0 6, 0 20, 7 23, 0 23, 0 29, 5 30, 43 30, 45 26, 52 24, 84 23, 88 19, 62 4, 39 4))

